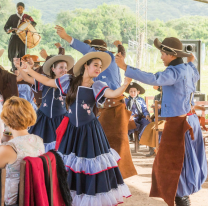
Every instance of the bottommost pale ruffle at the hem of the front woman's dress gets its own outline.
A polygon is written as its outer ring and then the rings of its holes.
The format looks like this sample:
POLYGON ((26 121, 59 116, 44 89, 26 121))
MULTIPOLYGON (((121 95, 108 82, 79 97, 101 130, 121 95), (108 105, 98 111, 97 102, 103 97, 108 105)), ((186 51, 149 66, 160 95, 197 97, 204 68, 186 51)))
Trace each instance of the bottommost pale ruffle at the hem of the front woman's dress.
POLYGON ((131 192, 126 184, 122 184, 109 192, 96 195, 77 195, 76 191, 71 190, 71 196, 73 206, 116 206, 123 203, 123 197, 131 197, 131 192))

